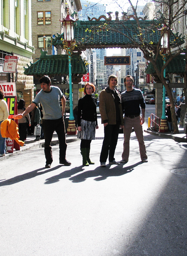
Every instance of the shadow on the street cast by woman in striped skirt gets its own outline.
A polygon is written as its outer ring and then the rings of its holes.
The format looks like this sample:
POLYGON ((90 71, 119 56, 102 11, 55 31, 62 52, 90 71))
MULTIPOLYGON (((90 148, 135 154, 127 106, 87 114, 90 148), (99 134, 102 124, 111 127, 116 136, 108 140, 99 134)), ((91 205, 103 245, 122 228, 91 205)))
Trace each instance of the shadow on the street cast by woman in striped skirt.
MULTIPOLYGON (((62 166, 62 165, 61 165, 62 166)), ((52 176, 48 179, 46 179, 46 182, 44 184, 51 184, 55 182, 59 182, 60 179, 69 178, 72 175, 79 173, 80 171, 84 171, 83 166, 77 166, 75 168, 72 168, 71 170, 64 171, 63 173, 60 173, 58 175, 52 176)))

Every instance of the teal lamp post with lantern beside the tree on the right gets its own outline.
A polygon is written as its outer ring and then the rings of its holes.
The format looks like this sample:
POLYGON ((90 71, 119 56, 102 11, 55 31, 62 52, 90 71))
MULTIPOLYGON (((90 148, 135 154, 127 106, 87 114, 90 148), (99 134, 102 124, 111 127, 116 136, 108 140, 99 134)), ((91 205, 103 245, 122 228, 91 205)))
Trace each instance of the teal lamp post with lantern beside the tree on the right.
MULTIPOLYGON (((163 57, 163 65, 166 63, 166 54, 169 48, 169 42, 168 42, 168 28, 164 24, 162 28, 158 29, 161 31, 161 48, 160 55, 163 57)), ((163 76, 166 78, 166 69, 163 71, 163 76)), ((163 85, 163 100, 162 100, 162 117, 160 121, 160 127, 159 132, 167 132, 168 131, 168 125, 167 125, 167 119, 166 119, 166 89, 163 85)))

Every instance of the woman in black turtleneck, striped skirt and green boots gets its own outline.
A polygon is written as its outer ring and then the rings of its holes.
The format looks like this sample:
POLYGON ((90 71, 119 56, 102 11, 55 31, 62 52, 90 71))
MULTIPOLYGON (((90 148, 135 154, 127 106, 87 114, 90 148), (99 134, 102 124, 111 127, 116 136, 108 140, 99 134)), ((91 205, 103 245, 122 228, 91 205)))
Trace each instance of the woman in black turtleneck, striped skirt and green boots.
POLYGON ((95 164, 89 158, 90 144, 92 140, 95 140, 95 128, 99 128, 96 113, 97 100, 92 97, 93 92, 95 92, 95 86, 92 83, 86 83, 84 87, 85 97, 80 98, 78 102, 77 138, 81 139, 80 152, 84 166, 95 164))

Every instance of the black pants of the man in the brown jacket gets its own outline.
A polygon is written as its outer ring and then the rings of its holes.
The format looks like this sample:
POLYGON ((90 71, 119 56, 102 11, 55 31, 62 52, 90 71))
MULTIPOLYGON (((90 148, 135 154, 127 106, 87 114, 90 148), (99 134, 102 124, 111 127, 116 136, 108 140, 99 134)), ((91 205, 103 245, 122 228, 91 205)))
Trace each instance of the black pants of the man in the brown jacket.
POLYGON ((100 162, 106 162, 107 158, 109 162, 112 162, 114 158, 114 153, 117 145, 118 135, 119 135, 120 123, 117 122, 115 125, 107 125, 104 127, 104 140, 102 143, 100 162), (109 151, 109 156, 108 156, 109 151))

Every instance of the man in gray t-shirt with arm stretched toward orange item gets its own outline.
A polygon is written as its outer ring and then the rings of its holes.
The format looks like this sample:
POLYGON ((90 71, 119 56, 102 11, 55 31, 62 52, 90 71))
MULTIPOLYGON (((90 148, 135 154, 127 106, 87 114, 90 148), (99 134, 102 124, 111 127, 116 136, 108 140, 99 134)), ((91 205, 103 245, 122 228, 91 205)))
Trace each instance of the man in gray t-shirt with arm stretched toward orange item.
POLYGON ((31 112, 38 103, 42 104, 43 109, 43 133, 45 137, 44 152, 46 157, 46 168, 50 168, 53 158, 51 150, 51 140, 53 132, 56 131, 59 140, 59 163, 63 165, 71 165, 65 158, 67 144, 65 141, 65 97, 61 90, 51 85, 49 76, 40 78, 42 90, 36 95, 33 103, 25 109, 22 114, 13 116, 14 119, 21 119, 23 116, 31 112), (59 100, 62 101, 62 112, 59 105, 59 100))

